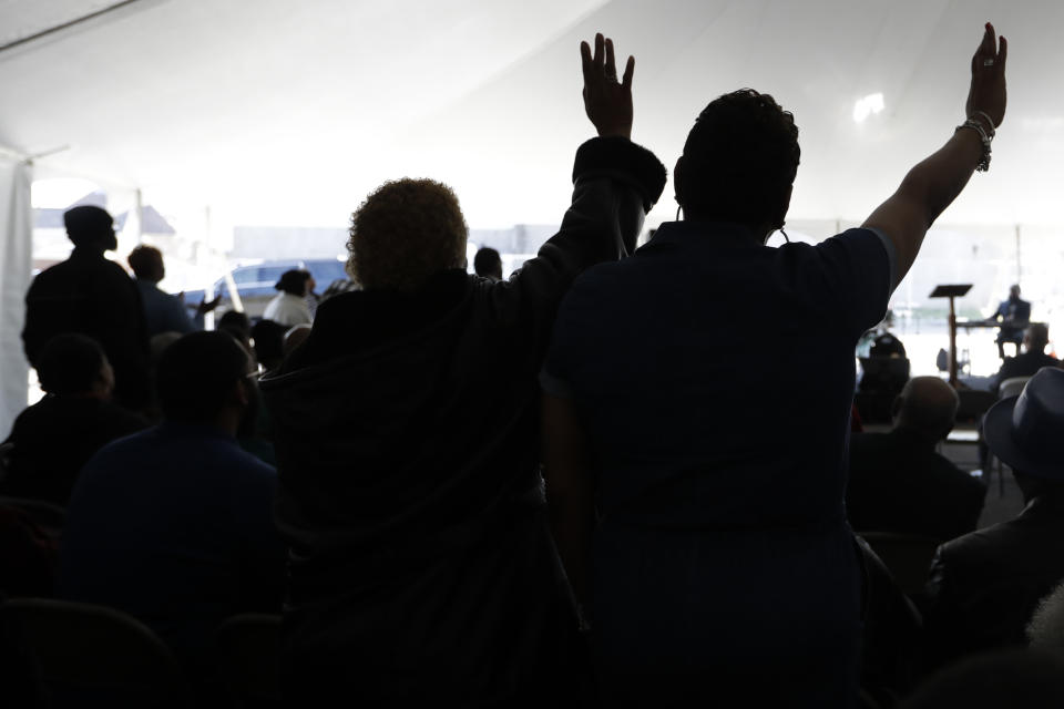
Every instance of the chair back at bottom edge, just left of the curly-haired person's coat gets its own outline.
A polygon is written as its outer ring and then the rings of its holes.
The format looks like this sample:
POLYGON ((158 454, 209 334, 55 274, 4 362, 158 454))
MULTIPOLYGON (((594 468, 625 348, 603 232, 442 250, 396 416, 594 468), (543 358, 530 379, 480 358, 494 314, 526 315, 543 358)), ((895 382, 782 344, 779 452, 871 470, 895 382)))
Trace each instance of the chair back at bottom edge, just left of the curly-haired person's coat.
POLYGON ((222 680, 245 707, 280 706, 280 616, 242 614, 217 635, 222 680))

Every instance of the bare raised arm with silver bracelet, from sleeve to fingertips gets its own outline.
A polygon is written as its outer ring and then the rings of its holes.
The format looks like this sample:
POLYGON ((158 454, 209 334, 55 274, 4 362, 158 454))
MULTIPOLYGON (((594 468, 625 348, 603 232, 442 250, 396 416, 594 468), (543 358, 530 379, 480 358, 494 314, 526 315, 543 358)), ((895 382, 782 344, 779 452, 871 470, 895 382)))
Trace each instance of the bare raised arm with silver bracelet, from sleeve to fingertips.
POLYGON ((938 152, 910 169, 898 191, 863 224, 881 230, 893 242, 898 251, 898 281, 915 260, 931 224, 961 193, 972 172, 980 166, 985 169, 983 161, 990 158, 990 146, 988 142, 984 147, 982 134, 993 137, 1005 116, 1007 50, 1005 38, 1001 38, 999 45, 994 28, 988 22, 983 40, 972 56, 964 126, 938 152))

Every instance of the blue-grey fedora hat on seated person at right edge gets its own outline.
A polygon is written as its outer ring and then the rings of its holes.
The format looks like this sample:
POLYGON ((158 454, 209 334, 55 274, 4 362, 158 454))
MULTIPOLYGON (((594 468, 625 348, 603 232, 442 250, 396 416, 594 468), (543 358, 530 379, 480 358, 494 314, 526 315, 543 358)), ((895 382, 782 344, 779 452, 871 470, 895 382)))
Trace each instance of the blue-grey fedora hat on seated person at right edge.
POLYGON ((1043 367, 983 419, 986 445, 1013 470, 1064 482, 1064 369, 1043 367))

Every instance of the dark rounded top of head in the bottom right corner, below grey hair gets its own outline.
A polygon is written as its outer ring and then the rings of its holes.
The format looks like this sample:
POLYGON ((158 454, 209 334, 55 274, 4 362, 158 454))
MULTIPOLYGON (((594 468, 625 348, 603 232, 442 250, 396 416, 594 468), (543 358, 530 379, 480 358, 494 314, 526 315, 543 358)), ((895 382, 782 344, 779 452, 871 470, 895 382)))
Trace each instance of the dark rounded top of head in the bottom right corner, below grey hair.
POLYGON ((1064 707, 1064 658, 1026 649, 976 655, 934 675, 900 705, 900 709, 1001 707, 1064 707))

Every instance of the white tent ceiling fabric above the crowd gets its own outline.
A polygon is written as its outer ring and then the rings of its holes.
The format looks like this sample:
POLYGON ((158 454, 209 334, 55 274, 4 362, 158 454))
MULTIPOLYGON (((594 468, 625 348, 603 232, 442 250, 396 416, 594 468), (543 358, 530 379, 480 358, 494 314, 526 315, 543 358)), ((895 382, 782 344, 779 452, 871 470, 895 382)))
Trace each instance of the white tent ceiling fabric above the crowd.
MULTIPOLYGON (((110 4, 0 0, 3 39, 110 4)), ((754 86, 801 131, 791 216, 860 219, 962 121, 992 20, 1009 114, 943 219, 1056 224, 1062 19, 1057 0, 141 0, 0 53, 0 144, 69 145, 39 172, 243 223, 342 225, 408 174, 451 184, 471 226, 551 223, 592 134, 577 43, 601 29, 636 56, 633 138, 666 164, 708 100, 754 86), (884 110, 856 123, 872 93, 884 110)))

